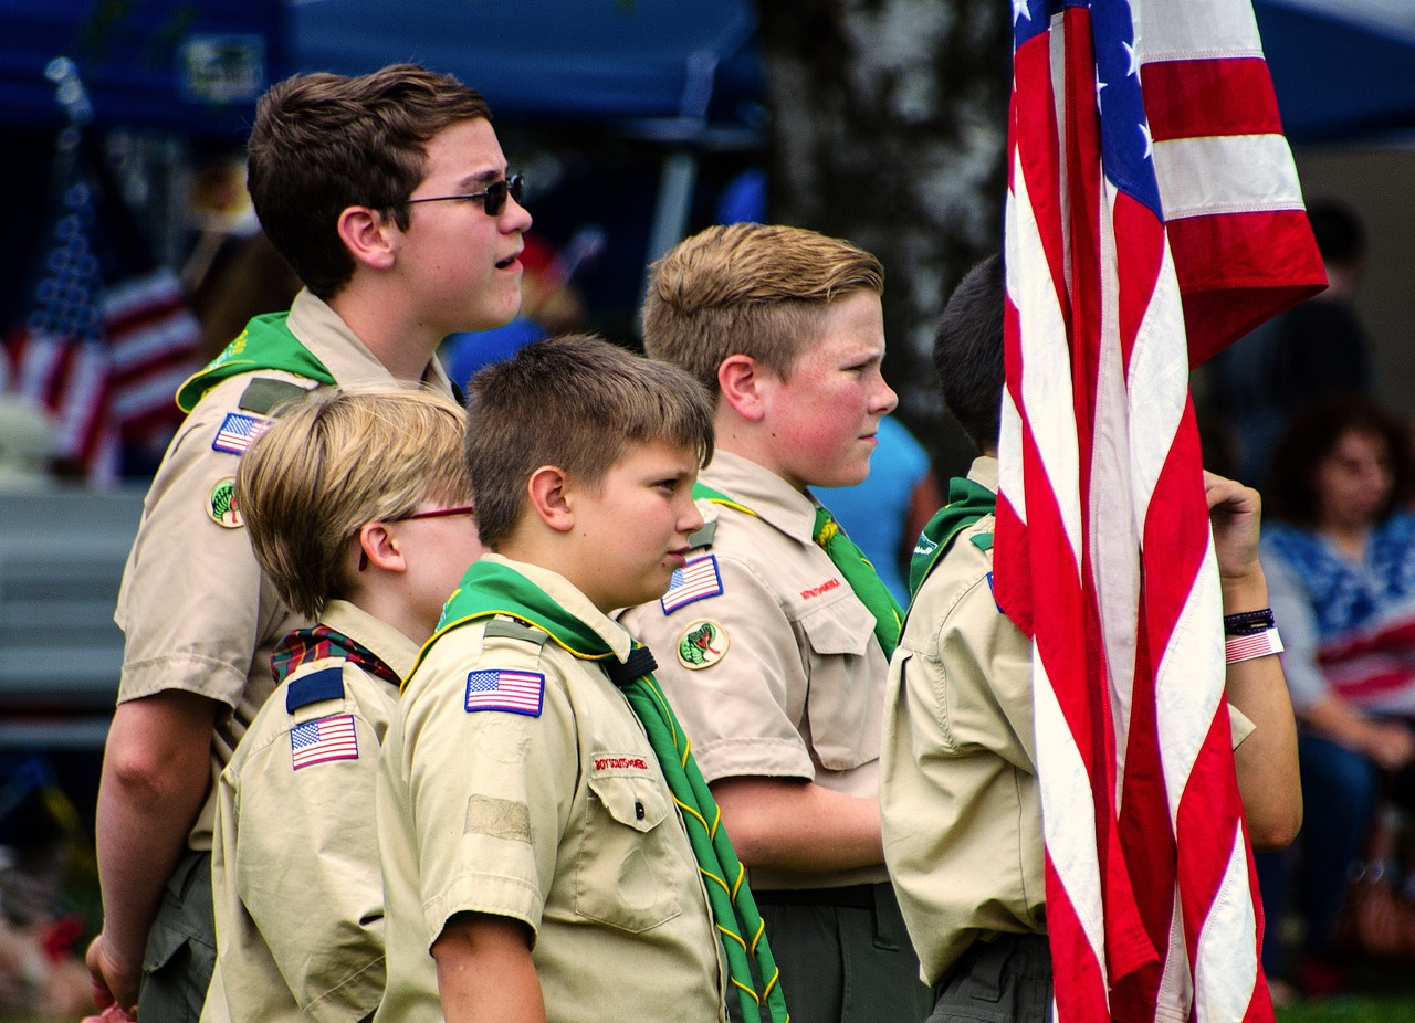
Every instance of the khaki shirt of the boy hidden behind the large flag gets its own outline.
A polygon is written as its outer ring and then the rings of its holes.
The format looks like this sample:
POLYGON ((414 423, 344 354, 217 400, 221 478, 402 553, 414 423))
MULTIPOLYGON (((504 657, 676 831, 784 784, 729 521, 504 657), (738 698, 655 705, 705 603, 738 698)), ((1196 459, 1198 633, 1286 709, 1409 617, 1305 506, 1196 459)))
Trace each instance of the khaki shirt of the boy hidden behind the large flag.
MULTIPOLYGON (((969 480, 998 490, 998 461, 969 480)), ((880 816, 927 983, 979 935, 1046 934, 1032 641, 998 610, 986 515, 954 539, 914 596, 890 661, 880 816)), ((1234 746, 1252 732, 1237 709, 1234 746)))

